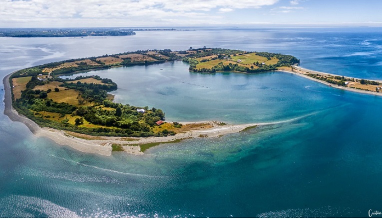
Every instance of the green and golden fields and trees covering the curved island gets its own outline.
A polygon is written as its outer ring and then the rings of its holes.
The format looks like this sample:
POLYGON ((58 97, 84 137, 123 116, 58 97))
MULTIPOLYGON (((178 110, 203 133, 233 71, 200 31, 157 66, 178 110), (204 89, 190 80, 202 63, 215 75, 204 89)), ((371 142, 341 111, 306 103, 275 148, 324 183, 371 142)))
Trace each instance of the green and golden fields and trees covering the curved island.
MULTIPOLYGON (((174 122, 158 127, 155 123, 165 120, 165 113, 162 110, 112 102, 107 94, 117 89, 117 84, 112 80, 99 76, 79 76, 65 80, 58 76, 114 66, 148 65, 182 59, 190 63, 191 70, 201 72, 234 70, 252 73, 275 70, 278 66, 299 62, 290 55, 250 53, 221 48, 190 48, 187 51, 138 50, 71 59, 22 69, 12 74, 9 82, 11 85, 13 82, 17 84, 12 89, 13 107, 41 127, 80 134, 122 137, 175 135, 178 130, 192 129, 193 125, 182 126, 174 122), (229 57, 235 58, 228 60, 229 57), (245 63, 236 63, 235 60, 238 61, 240 58, 254 62, 255 67, 250 68, 245 63), (263 62, 267 64, 262 65, 263 62), (206 66, 213 63, 214 66, 202 70, 196 69, 199 63, 206 66), (140 112, 142 109, 144 112, 140 112)), ((252 66, 251 63, 250 65, 252 66)), ((142 150, 148 147, 152 146, 144 145, 142 150)))

